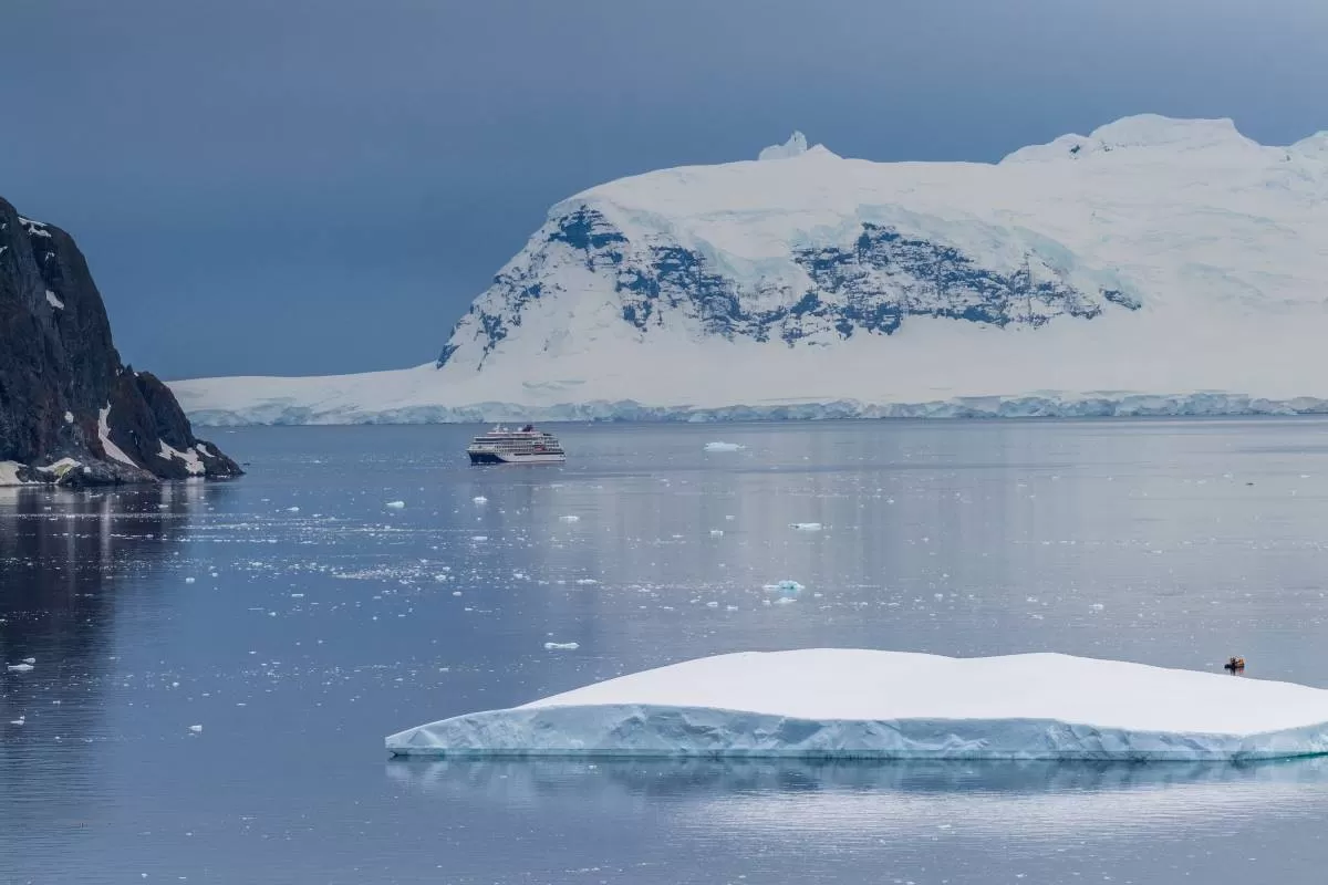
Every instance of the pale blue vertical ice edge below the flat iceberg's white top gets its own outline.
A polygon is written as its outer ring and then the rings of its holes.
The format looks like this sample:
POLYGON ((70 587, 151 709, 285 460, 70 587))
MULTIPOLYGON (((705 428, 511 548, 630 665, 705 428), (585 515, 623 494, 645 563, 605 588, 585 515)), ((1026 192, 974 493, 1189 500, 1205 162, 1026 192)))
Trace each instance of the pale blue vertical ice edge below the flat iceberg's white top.
POLYGON ((1328 754, 1328 722, 1242 735, 1056 719, 799 719, 652 705, 490 710, 386 739, 393 756, 1247 762, 1328 754))

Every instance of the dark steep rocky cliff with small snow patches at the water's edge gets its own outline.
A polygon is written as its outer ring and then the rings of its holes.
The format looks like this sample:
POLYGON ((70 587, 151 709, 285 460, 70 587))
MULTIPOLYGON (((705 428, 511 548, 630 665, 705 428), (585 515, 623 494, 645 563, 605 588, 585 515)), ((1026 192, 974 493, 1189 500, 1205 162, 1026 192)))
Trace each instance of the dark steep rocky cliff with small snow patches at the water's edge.
POLYGON ((0 199, 0 484, 240 472, 166 385, 120 361, 73 239, 0 199))

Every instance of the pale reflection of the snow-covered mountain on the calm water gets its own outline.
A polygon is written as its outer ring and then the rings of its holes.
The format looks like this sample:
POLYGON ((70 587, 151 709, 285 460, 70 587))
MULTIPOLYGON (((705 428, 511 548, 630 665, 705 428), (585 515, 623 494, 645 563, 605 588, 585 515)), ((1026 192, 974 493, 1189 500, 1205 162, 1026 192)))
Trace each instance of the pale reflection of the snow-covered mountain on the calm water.
MULTIPOLYGON (((523 614, 628 669, 827 634, 834 645, 1193 669, 1211 666, 1208 649, 1240 647, 1272 666, 1286 646, 1252 645, 1220 602, 1312 581, 1315 539, 1328 529, 1328 510, 1305 494, 1279 486, 1276 504, 1250 498, 1246 475, 1263 488, 1275 462, 1238 463, 1222 437, 1197 448, 1146 423, 566 435, 579 452, 566 470, 467 474, 459 512, 490 536, 474 549, 494 582, 514 552, 523 571, 566 581, 526 594, 523 614), (746 448, 705 454, 706 439, 746 448), (513 484, 525 486, 519 498, 513 484), (473 512, 470 495, 493 504, 473 512), (499 502, 514 506, 501 512, 499 502), (784 579, 807 592, 766 608, 761 586, 784 579), (683 614, 706 608, 705 621, 683 614), (1175 641, 1158 642, 1159 629, 1175 641)), ((1260 674, 1308 678, 1291 663, 1260 674)))

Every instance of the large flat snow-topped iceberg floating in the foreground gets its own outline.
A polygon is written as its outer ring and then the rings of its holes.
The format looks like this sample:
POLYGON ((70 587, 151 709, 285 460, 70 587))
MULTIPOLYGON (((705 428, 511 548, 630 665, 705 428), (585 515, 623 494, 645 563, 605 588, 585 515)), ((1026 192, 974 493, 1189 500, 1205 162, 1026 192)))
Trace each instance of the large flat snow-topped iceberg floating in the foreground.
POLYGON ((685 661, 409 728, 398 756, 1252 760, 1328 754, 1328 690, 1065 654, 685 661))

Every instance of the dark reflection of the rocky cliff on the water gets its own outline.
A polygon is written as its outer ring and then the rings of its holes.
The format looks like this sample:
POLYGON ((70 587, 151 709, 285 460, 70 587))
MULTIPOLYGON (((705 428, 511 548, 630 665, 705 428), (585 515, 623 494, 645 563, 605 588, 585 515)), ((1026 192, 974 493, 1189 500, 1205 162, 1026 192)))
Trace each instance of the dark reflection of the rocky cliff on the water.
POLYGON ((0 488, 0 662, 37 661, 0 670, 0 795, 29 799, 29 819, 58 825, 86 811, 117 598, 171 553, 203 494, 201 483, 0 488))

